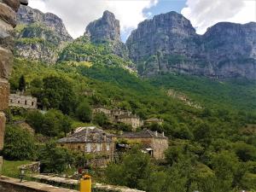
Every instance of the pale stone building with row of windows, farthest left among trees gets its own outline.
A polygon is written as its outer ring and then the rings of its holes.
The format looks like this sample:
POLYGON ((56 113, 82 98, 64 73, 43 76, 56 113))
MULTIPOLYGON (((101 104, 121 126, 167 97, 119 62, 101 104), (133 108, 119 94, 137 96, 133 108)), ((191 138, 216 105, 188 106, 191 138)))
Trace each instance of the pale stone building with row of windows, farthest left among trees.
POLYGON ((32 96, 25 96, 18 92, 16 94, 10 94, 9 106, 20 108, 38 108, 38 98, 32 96))

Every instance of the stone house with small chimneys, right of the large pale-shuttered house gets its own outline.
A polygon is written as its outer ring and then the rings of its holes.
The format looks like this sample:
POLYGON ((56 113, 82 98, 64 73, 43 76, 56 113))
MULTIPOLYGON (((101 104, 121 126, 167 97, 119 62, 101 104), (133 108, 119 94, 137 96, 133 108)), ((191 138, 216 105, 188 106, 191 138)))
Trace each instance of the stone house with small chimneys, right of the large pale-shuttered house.
POLYGON ((165 137, 164 133, 157 131, 125 132, 118 136, 118 139, 125 139, 129 144, 142 144, 143 152, 148 153, 156 160, 164 159, 165 151, 168 148, 168 138, 165 137))

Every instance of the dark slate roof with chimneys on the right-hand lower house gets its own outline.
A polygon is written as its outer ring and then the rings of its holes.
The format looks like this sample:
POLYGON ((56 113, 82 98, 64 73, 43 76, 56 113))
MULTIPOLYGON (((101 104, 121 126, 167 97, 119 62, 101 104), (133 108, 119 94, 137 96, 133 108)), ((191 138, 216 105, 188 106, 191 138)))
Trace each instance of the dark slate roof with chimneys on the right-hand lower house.
POLYGON ((163 136, 162 133, 150 130, 143 130, 139 132, 125 132, 119 136, 119 138, 163 138, 167 139, 167 137, 163 136))

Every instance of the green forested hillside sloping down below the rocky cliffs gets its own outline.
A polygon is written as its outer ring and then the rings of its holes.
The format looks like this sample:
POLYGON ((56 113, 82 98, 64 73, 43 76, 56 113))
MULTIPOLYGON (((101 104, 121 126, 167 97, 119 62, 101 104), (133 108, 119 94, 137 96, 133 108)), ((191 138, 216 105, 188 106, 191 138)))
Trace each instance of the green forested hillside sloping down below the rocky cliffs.
MULTIPOLYGON (((10 80, 13 91, 18 89, 20 76, 24 75, 27 93, 72 119, 77 119, 75 113, 79 103, 86 101, 91 107, 119 107, 129 109, 143 119, 158 117, 165 120, 161 126, 148 128, 165 131, 170 138, 166 160, 151 161, 134 149, 126 154, 123 163, 108 166, 106 175, 101 177, 104 182, 150 192, 255 189, 256 135, 253 130, 256 129, 256 114, 253 105, 248 104, 253 104, 254 95, 247 92, 247 102, 240 105, 241 97, 237 100, 237 95, 232 94, 236 89, 255 91, 253 83, 243 82, 236 87, 230 82, 167 76, 167 84, 162 79, 140 79, 122 67, 103 63, 87 66, 72 61, 49 66, 17 58, 14 68, 10 80), (159 85, 183 91, 202 108, 189 107, 183 101, 167 96, 166 89, 159 85), (191 88, 193 86, 195 89, 191 88), (67 94, 66 91, 68 95, 61 100, 58 96, 67 94), (132 172, 140 163, 143 163, 140 166, 143 174, 132 172), (131 177, 125 177, 127 172, 136 179, 131 182, 131 177)), ((60 117, 60 114, 55 115, 60 117)), ((46 136, 61 137, 58 131, 51 130, 55 126, 46 127, 48 131, 38 131, 46 136)))

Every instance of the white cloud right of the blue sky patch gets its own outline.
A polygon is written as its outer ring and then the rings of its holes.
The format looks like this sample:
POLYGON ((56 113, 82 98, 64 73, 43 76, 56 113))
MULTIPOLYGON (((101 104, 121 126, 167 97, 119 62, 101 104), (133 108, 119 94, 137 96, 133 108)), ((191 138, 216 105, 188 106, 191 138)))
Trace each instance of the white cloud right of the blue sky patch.
POLYGON ((191 20, 200 34, 207 27, 220 21, 247 23, 256 21, 256 1, 254 0, 187 0, 182 14, 191 20))

